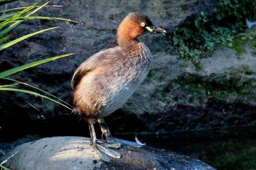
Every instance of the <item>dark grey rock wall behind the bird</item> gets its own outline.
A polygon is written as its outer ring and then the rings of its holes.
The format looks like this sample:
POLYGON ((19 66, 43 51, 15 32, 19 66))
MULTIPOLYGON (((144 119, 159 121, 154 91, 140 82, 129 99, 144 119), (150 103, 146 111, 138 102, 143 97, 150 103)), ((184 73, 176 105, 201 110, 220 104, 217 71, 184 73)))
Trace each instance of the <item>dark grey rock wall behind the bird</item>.
MULTIPOLYGON (((29 3, 30 1, 14 2, 13 5, 24 6, 29 3)), ((69 102, 73 72, 83 60, 115 43, 116 28, 127 13, 145 13, 156 25, 171 31, 174 26, 182 24, 199 11, 210 12, 215 6, 212 0, 52 0, 51 4, 63 7, 44 8, 39 14, 72 18, 79 23, 71 29, 71 25, 66 22, 24 22, 17 28, 17 32, 27 28, 31 32, 36 31, 40 29, 37 24, 42 28, 57 25, 61 28, 33 36, 0 51, 0 55, 5 56, 5 59, 11 57, 31 60, 80 51, 81 54, 76 56, 43 64, 13 76, 36 84, 69 102)), ((107 118, 112 129, 117 132, 172 131, 255 124, 256 57, 252 55, 253 49, 249 46, 245 47, 246 52, 240 56, 229 48, 218 49, 210 57, 201 58, 203 69, 197 70, 191 62, 182 61, 177 55, 170 54, 172 46, 164 36, 145 34, 140 40, 152 51, 152 69, 127 103, 107 118), (130 126, 132 122, 137 123, 130 126)), ((26 62, 0 62, 0 71, 24 63, 26 62)), ((0 115, 0 124, 4 124, 2 130, 12 128, 8 124, 23 126, 21 122, 26 122, 27 119, 39 122, 54 119, 55 123, 70 113, 40 97, 24 93, 15 95, 25 98, 40 111, 24 100, 1 99, 3 102, 0 103, 0 110, 3 114, 0 115)))

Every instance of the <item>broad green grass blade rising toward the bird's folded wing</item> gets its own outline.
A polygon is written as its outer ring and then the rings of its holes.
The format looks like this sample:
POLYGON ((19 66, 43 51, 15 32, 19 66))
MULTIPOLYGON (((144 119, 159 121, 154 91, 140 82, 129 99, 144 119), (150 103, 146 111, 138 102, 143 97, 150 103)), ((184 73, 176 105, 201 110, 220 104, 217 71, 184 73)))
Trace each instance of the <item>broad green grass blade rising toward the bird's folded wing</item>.
POLYGON ((75 54, 75 53, 68 53, 68 54, 64 54, 64 55, 53 56, 53 57, 50 57, 50 58, 41 59, 41 60, 34 61, 34 62, 31 62, 31 63, 27 63, 27 64, 24 64, 24 65, 21 65, 21 66, 17 66, 15 68, 8 69, 6 71, 0 72, 0 78, 6 77, 8 75, 14 74, 14 73, 19 72, 21 70, 31 68, 33 66, 36 66, 36 65, 39 65, 39 64, 42 64, 42 63, 45 63, 45 62, 49 62, 49 61, 52 61, 52 60, 55 60, 55 59, 58 59, 58 58, 62 58, 62 57, 65 57, 65 56, 70 56, 70 55, 73 55, 73 54, 75 54))

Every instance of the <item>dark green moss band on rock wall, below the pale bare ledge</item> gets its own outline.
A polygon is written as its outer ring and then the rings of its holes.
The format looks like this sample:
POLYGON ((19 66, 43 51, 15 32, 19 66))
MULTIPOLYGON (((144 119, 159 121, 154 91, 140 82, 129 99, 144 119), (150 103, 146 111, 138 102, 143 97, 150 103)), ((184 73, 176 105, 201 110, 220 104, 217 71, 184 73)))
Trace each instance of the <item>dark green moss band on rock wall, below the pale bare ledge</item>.
POLYGON ((256 79, 249 75, 255 74, 246 64, 242 65, 239 72, 231 72, 225 75, 200 76, 197 74, 183 74, 176 83, 179 83, 187 95, 194 99, 188 102, 207 102, 208 98, 213 101, 226 101, 230 98, 243 99, 244 97, 256 99, 256 79))

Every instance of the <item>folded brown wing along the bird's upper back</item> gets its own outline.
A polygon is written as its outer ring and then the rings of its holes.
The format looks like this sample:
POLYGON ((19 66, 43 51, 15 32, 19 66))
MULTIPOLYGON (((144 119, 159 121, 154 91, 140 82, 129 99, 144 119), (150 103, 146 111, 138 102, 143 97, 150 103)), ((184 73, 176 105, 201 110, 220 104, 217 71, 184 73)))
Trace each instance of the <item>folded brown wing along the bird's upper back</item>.
POLYGON ((107 60, 109 57, 111 57, 111 55, 113 55, 116 50, 119 49, 117 47, 106 48, 85 60, 75 71, 71 80, 71 88, 74 89, 83 76, 85 76, 89 71, 99 67, 104 62, 104 60, 107 60))

